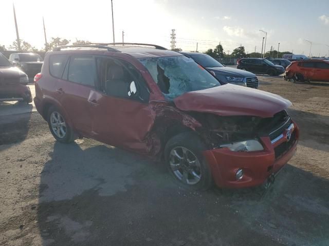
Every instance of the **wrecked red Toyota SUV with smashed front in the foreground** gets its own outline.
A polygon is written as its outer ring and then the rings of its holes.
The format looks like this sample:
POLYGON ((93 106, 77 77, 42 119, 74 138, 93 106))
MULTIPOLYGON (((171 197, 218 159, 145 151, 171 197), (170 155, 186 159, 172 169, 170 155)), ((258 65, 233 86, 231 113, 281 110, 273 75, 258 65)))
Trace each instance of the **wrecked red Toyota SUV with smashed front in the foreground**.
POLYGON ((192 189, 262 185, 297 148, 290 101, 222 85, 160 46, 59 47, 35 80, 35 107, 58 141, 89 137, 162 159, 192 189))

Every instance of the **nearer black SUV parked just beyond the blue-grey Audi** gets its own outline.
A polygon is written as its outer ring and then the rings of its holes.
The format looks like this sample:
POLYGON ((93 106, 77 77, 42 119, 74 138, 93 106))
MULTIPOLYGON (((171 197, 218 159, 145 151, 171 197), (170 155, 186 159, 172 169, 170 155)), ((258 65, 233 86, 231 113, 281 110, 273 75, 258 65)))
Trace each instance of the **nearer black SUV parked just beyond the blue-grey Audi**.
POLYGON ((268 74, 276 76, 285 72, 284 68, 262 58, 242 58, 236 63, 237 69, 250 71, 256 74, 268 74))

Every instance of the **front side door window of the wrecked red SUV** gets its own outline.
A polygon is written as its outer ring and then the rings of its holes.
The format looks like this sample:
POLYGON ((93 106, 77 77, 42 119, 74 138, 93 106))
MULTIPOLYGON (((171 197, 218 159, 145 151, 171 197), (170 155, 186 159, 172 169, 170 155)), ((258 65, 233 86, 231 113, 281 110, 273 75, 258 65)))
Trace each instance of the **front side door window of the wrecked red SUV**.
POLYGON ((100 84, 98 89, 110 96, 117 96, 141 101, 149 100, 149 90, 140 72, 124 60, 97 58, 97 71, 100 84), (137 88, 136 96, 129 96, 132 81, 137 88))

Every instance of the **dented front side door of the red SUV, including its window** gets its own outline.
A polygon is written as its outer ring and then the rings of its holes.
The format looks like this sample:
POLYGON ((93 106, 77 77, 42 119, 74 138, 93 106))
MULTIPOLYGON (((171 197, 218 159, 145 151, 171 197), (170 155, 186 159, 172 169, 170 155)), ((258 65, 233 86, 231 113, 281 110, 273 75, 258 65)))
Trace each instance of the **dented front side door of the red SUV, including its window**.
POLYGON ((106 58, 102 66, 105 74, 100 76, 101 88, 92 90, 88 98, 93 138, 147 153, 144 138, 153 126, 154 117, 141 81, 121 61, 106 58), (136 85, 135 93, 130 91, 132 81, 136 85))

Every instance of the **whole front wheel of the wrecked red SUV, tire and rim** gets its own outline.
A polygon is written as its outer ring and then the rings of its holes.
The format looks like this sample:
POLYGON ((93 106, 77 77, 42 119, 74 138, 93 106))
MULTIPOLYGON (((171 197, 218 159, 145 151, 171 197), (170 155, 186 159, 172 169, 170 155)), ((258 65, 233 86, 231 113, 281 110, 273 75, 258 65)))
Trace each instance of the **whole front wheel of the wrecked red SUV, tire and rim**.
POLYGON ((207 190, 212 185, 211 171, 203 150, 206 150, 203 142, 193 132, 180 133, 167 142, 166 165, 181 186, 191 190, 207 190))

